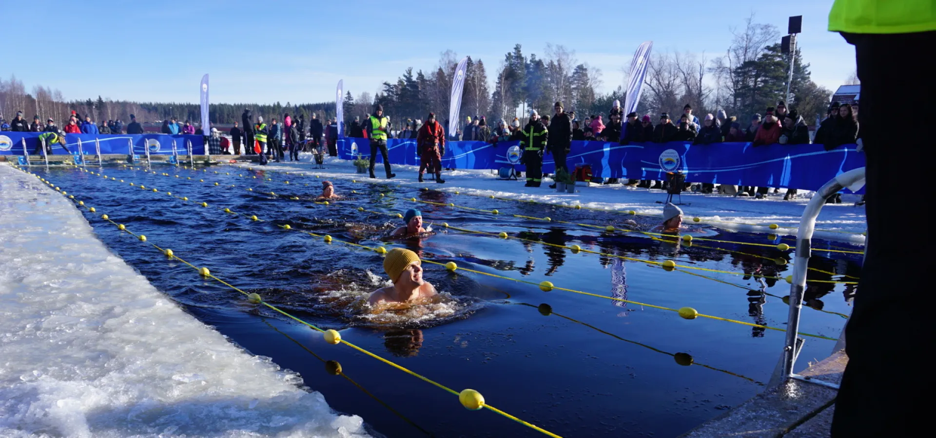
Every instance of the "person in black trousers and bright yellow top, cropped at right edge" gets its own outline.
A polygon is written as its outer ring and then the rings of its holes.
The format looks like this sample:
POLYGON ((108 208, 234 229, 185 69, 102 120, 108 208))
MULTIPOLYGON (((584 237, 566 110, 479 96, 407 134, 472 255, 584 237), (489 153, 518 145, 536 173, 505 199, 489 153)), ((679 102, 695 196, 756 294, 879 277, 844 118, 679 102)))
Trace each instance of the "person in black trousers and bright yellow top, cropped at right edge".
POLYGON ((894 129, 888 115, 929 107, 936 94, 936 69, 926 61, 936 47, 936 1, 836 0, 828 30, 855 45, 869 239, 845 328, 848 365, 831 435, 920 436, 931 429, 927 397, 909 394, 932 388, 925 383, 932 381, 929 361, 919 356, 932 340, 926 311, 919 313, 931 286, 926 270, 907 269, 907 244, 898 233, 907 229, 906 209, 920 205, 931 185, 927 172, 908 163, 928 156, 933 140, 925 128, 894 129))

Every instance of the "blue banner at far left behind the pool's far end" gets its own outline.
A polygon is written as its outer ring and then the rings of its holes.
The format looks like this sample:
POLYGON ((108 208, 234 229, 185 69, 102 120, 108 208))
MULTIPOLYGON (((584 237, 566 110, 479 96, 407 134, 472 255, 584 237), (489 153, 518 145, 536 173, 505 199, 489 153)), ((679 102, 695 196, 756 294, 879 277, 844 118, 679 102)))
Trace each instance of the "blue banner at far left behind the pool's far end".
MULTIPOLYGON (((0 155, 22 155, 23 140, 26 152, 31 155, 41 155, 38 137, 42 133, 14 133, 0 134, 0 155)), ((205 140, 201 135, 186 134, 66 134, 66 145, 52 145, 53 155, 67 155, 81 153, 95 155, 97 145, 100 145, 102 154, 129 155, 133 153, 145 155, 150 149, 150 155, 188 155, 187 142, 192 142, 192 153, 205 154, 205 140), (173 149, 174 148, 174 149, 173 149), (174 152, 173 152, 174 150, 174 152)))

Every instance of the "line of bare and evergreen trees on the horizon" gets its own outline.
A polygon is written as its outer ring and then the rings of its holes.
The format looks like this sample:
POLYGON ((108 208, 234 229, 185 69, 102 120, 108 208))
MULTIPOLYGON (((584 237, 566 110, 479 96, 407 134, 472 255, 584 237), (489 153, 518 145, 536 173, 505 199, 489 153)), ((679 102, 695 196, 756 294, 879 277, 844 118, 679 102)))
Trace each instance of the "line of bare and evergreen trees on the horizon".
MULTIPOLYGON (((651 114, 654 122, 658 114, 680 114, 682 106, 695 108, 694 114, 702 119, 706 113, 724 109, 728 116, 737 116, 746 125, 754 113, 763 114, 768 106, 786 100, 787 75, 790 65, 787 54, 781 53, 780 33, 771 24, 754 22, 751 16, 732 29, 732 41, 723 55, 703 53, 701 58, 690 53, 656 51, 651 55, 639 114, 651 114)), ((795 53, 793 80, 787 103, 807 122, 825 114, 831 92, 816 85, 810 78, 810 64, 804 64, 799 49, 795 53)), ((347 91, 342 105, 344 120, 366 117, 374 104, 381 104, 397 125, 403 119, 425 119, 434 112, 439 120, 449 114, 449 92, 452 78, 460 58, 452 50, 440 56, 438 64, 428 72, 407 68, 396 80, 385 81, 380 90, 370 92, 347 91)), ((468 59, 461 100, 461 119, 466 116, 487 116, 489 124, 495 120, 525 120, 530 108, 551 113, 552 105, 562 101, 566 110, 574 110, 578 118, 589 115, 607 115, 611 103, 624 102, 622 87, 611 92, 597 92, 602 84, 602 72, 588 64, 578 63, 575 51, 562 45, 547 44, 542 56, 529 55, 516 44, 506 52, 494 72, 490 89, 487 66, 481 59, 468 59)), ((334 102, 292 104, 279 102, 272 105, 212 104, 212 123, 230 124, 241 120, 241 112, 250 108, 254 115, 281 118, 289 113, 294 118, 312 113, 325 120, 335 117, 334 102)), ((126 122, 130 114, 139 121, 152 122, 176 117, 178 120, 199 122, 198 104, 113 101, 97 96, 96 99, 66 102, 62 93, 42 86, 26 92, 22 81, 15 77, 0 79, 0 110, 11 119, 15 111, 23 110, 31 119, 37 114, 43 120, 52 117, 63 120, 71 110, 91 114, 95 121, 121 119, 126 122)))

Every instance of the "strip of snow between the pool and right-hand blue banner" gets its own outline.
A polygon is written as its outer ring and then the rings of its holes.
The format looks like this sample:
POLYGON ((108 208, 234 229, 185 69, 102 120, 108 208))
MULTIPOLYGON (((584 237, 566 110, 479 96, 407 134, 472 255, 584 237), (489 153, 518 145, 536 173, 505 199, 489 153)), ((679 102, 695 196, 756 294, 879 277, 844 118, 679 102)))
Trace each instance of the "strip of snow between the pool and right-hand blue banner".
MULTIPOLYGON (((383 164, 379 162, 374 168, 377 178, 371 179, 367 174, 356 173, 356 169, 350 161, 327 158, 326 169, 314 169, 314 164, 310 162, 311 159, 312 154, 301 153, 300 162, 271 162, 267 167, 269 170, 318 174, 334 180, 336 184, 340 180, 350 182, 351 179, 356 179, 358 183, 388 182, 383 177, 383 164)), ((258 167, 256 163, 240 163, 237 165, 258 167)), ((578 187, 576 193, 559 193, 548 189, 547 186, 552 183, 548 178, 544 179, 542 187, 528 188, 523 187, 524 179, 519 181, 501 180, 491 174, 490 170, 444 171, 442 177, 446 180, 445 184, 431 181, 428 179, 428 175, 426 182, 417 182, 417 166, 394 165, 393 172, 397 174, 397 177, 391 180, 393 183, 409 187, 429 187, 437 191, 459 191, 461 194, 484 197, 494 195, 499 198, 537 201, 548 204, 582 205, 583 207, 602 210, 634 210, 638 214, 646 215, 661 215, 663 213, 663 204, 658 202, 666 199, 665 191, 636 189, 624 187, 621 184, 592 184, 590 187, 578 187)), ((336 191, 341 193, 343 190, 350 190, 350 187, 353 186, 344 185, 342 187, 337 185, 336 191)), ((800 191, 800 197, 797 200, 783 201, 783 193, 785 192, 785 189, 781 189, 780 193, 770 194, 768 199, 687 192, 681 196, 682 203, 686 204, 681 205, 681 208, 685 212, 686 222, 689 223, 692 222, 692 218, 697 217, 702 222, 724 229, 796 234, 799 219, 803 214, 806 203, 809 202, 808 198, 812 197, 812 192, 800 191), (768 225, 771 223, 776 223, 781 227, 793 228, 770 230, 768 225)), ((676 199, 679 201, 680 197, 676 197, 676 199)), ((859 199, 857 195, 843 194, 841 199, 841 204, 828 204, 823 207, 819 218, 816 220, 816 228, 851 233, 817 231, 814 237, 863 245, 865 238, 860 233, 866 230, 865 208, 864 206, 855 206, 855 202, 859 199)), ((500 202, 502 201, 491 201, 491 203, 500 202)), ((586 217, 588 214, 586 212, 582 213, 586 217)))

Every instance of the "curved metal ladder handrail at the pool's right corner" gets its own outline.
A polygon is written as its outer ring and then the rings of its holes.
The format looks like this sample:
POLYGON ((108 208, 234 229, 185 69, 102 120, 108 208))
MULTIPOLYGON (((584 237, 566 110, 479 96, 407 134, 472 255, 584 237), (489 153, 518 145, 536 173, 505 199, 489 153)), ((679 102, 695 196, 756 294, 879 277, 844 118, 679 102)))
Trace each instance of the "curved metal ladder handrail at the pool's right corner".
MULTIPOLYGON (((799 312, 803 307, 803 292, 806 290, 806 271, 809 268, 810 253, 812 252, 812 233, 815 231, 816 217, 823 205, 826 205, 826 198, 841 191, 843 188, 850 188, 856 191, 865 184, 865 168, 859 167, 845 172, 831 181, 826 182, 821 189, 812 196, 806 209, 803 211, 803 217, 799 219, 799 229, 797 230, 797 255, 793 265, 793 284, 790 286, 790 313, 786 321, 786 340, 783 345, 782 362, 782 381, 787 379, 797 379, 804 382, 810 382, 824 387, 839 389, 839 385, 825 382, 823 380, 805 377, 793 372, 793 367, 797 362, 799 350, 805 340, 797 337, 799 332, 799 312)), ((868 247, 867 240, 865 247, 868 247)), ((847 323, 847 322, 846 322, 847 323)), ((844 328, 842 328, 844 331, 844 328)))

